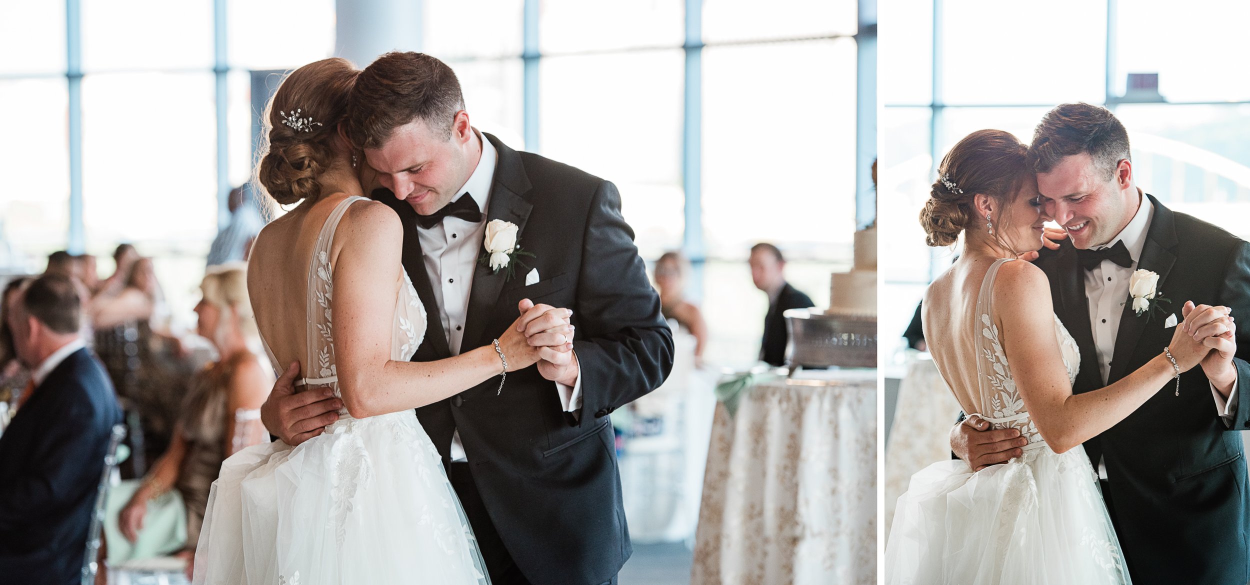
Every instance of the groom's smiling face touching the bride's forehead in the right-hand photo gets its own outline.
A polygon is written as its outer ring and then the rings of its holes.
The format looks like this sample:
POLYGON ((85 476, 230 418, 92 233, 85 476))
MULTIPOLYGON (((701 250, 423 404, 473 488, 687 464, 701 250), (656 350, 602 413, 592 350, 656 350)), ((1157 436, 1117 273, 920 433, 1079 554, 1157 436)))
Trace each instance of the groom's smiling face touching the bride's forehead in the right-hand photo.
POLYGON ((1111 244, 1136 212, 1131 165, 1121 160, 1111 176, 1088 152, 1065 156, 1050 172, 1038 174, 1042 210, 1085 250, 1111 244), (1131 195, 1131 196, 1130 196, 1131 195))

